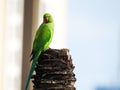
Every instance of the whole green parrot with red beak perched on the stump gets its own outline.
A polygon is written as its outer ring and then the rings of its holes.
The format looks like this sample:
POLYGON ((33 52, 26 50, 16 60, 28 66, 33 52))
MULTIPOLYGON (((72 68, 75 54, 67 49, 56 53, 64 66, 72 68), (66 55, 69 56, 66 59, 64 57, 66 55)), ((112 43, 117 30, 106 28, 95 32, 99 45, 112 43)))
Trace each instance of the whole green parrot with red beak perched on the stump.
POLYGON ((38 28, 33 42, 33 49, 31 53, 32 64, 27 78, 25 90, 28 89, 30 78, 34 72, 41 52, 45 51, 52 41, 53 33, 54 33, 53 18, 49 13, 45 13, 43 16, 43 23, 38 28))

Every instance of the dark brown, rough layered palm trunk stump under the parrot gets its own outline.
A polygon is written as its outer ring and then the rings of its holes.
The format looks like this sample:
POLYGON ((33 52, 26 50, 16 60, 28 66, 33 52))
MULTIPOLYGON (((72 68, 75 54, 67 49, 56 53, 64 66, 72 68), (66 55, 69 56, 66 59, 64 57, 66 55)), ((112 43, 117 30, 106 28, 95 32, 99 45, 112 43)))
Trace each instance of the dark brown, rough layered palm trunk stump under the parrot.
POLYGON ((76 90, 74 66, 68 49, 48 49, 41 54, 36 74, 32 76, 33 90, 76 90))

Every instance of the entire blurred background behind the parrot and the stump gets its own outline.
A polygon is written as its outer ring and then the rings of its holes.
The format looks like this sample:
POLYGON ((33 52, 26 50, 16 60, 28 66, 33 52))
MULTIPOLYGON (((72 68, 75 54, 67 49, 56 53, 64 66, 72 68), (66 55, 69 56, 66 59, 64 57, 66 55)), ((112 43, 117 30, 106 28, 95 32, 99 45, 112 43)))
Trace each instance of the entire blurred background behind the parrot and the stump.
POLYGON ((0 0, 0 90, 24 90, 45 12, 55 21, 50 47, 70 49, 76 90, 120 90, 119 0, 0 0))

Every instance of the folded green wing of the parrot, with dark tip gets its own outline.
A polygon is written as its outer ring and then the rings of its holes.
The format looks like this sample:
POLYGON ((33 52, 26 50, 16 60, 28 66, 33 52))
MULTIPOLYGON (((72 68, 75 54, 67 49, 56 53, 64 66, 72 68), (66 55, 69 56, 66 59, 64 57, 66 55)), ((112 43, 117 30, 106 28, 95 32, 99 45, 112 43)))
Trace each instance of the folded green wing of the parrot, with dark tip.
POLYGON ((32 49, 32 59, 36 57, 37 52, 44 51, 51 42, 52 31, 47 25, 42 24, 36 33, 32 49))

